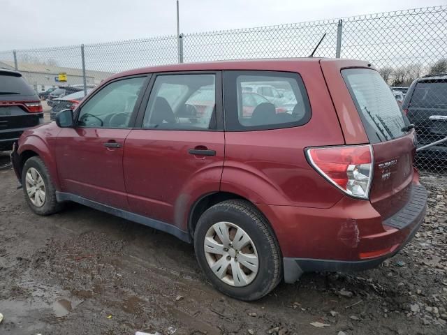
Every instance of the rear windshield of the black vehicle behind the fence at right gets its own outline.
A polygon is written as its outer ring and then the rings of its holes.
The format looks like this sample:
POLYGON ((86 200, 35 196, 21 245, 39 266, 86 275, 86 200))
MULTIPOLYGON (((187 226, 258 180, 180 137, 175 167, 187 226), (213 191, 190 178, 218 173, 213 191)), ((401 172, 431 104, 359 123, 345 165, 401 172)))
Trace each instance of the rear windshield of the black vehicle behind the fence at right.
POLYGON ((447 81, 418 82, 411 96, 410 107, 447 108, 447 81))

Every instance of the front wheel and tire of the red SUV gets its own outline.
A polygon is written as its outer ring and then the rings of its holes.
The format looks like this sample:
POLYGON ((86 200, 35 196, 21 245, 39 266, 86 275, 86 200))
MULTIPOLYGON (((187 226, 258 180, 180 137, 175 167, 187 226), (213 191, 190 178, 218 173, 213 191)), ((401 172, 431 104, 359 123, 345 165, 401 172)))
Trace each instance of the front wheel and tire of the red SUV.
POLYGON ((42 216, 57 213, 62 204, 56 200, 56 188, 50 172, 38 156, 29 158, 22 170, 22 186, 29 208, 42 216))

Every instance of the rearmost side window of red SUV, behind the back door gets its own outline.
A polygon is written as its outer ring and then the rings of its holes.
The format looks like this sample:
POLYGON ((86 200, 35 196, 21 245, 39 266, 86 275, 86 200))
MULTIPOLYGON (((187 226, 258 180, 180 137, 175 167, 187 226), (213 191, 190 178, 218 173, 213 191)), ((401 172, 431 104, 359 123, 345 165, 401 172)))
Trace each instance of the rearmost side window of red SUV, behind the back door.
POLYGON ((225 71, 224 101, 228 131, 301 126, 311 114, 298 73, 225 71))

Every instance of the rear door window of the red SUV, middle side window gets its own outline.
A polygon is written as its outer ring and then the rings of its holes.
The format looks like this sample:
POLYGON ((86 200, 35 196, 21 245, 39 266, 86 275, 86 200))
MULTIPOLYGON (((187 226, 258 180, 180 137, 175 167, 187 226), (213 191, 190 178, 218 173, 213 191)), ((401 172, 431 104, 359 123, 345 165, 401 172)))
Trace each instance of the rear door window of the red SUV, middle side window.
POLYGON ((143 128, 215 128, 216 78, 213 74, 159 75, 147 103, 143 128))

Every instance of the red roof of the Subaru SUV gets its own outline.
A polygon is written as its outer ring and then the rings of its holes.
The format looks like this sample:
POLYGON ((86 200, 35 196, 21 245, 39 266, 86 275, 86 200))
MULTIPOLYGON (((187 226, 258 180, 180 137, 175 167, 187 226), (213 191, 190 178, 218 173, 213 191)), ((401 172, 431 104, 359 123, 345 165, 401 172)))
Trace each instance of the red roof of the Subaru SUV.
MULTIPOLYGON (((122 73, 117 73, 109 77, 105 82, 114 80, 119 77, 129 75, 141 75, 145 73, 161 73, 161 72, 176 72, 176 71, 197 71, 197 70, 277 70, 277 71, 293 71, 295 66, 300 64, 318 64, 319 61, 330 61, 339 63, 341 66, 349 63, 353 59, 323 59, 323 58, 279 58, 279 59, 237 59, 230 61, 208 61, 202 63, 182 63, 170 64, 163 66, 151 66, 146 68, 136 68, 134 70, 127 70, 122 73)), ((362 62, 367 66, 367 62, 362 62)), ((356 61, 356 64, 360 64, 356 61)), ((369 65, 370 66, 370 65, 369 65)))

